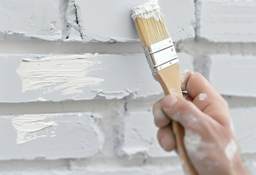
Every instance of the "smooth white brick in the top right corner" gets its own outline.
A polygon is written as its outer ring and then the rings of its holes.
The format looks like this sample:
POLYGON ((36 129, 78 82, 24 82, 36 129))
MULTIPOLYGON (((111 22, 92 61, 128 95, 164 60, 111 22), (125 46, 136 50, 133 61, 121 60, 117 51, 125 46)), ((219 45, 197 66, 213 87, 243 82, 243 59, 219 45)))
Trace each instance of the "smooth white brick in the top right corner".
POLYGON ((256 0, 197 0, 199 37, 211 42, 256 42, 256 0))

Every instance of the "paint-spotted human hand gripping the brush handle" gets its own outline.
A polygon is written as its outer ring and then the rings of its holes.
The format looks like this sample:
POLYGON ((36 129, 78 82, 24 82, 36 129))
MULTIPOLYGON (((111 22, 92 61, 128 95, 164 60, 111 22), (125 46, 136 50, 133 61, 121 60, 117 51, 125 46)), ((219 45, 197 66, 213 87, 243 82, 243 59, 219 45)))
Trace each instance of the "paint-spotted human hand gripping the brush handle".
POLYGON ((185 129, 186 153, 199 175, 246 175, 227 102, 198 72, 182 72, 181 79, 184 98, 168 95, 153 106, 162 148, 175 149, 175 120, 185 129))

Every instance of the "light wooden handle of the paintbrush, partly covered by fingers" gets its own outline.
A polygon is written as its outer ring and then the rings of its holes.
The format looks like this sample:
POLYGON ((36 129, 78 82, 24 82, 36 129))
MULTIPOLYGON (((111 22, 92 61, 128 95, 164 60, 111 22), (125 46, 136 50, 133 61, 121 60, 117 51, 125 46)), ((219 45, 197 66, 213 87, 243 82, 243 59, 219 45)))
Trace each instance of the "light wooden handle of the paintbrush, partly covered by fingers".
MULTIPOLYGON (((153 73, 153 76, 162 86, 165 95, 175 95, 183 97, 180 86, 180 63, 175 63, 172 66, 159 70, 153 73)), ((172 127, 178 153, 180 155, 180 158, 184 162, 184 168, 191 175, 198 175, 185 151, 183 143, 184 127, 180 125, 180 123, 177 123, 175 121, 172 121, 172 127)))

